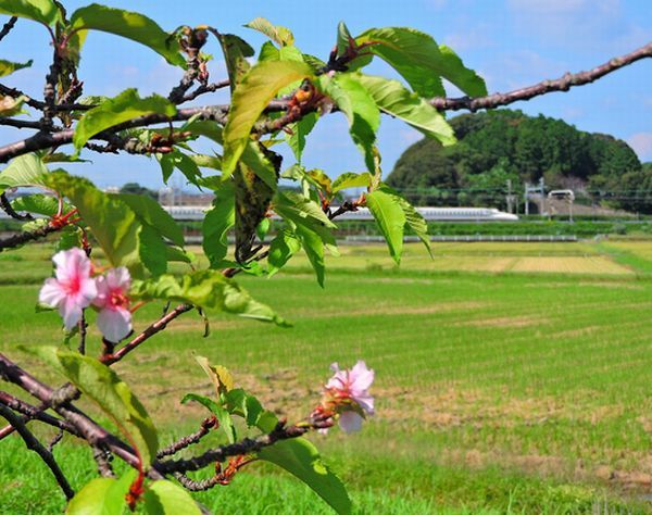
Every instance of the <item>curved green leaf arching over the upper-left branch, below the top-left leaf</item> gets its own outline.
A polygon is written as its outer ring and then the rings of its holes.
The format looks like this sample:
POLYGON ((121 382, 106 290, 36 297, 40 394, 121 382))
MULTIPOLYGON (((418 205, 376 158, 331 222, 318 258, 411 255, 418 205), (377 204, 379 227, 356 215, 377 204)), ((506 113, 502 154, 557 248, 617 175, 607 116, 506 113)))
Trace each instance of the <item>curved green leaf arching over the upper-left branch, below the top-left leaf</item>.
POLYGON ((176 114, 176 108, 170 100, 158 95, 141 99, 134 88, 126 89, 117 97, 102 102, 87 111, 75 127, 73 142, 77 153, 98 133, 148 114, 172 117, 176 114))

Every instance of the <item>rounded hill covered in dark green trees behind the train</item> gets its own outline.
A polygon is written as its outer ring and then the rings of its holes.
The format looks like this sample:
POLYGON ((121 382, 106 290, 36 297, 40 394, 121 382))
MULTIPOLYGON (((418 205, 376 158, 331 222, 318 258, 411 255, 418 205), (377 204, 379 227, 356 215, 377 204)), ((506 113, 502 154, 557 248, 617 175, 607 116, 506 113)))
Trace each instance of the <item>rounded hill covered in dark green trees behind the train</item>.
POLYGON ((505 206, 507 180, 544 178, 572 188, 578 201, 652 213, 652 163, 641 164, 623 140, 576 129, 562 120, 499 110, 450 121, 459 143, 423 139, 410 147, 387 181, 421 205, 505 206))

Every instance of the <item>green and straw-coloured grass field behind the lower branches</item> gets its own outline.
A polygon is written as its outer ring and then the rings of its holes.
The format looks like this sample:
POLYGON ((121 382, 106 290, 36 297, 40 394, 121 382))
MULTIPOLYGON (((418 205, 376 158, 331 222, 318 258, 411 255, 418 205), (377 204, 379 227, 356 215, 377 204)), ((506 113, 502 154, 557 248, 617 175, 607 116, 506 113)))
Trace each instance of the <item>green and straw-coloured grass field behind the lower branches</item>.
MULTIPOLYGON (((356 513, 652 513, 651 242, 441 243, 434 260, 408 246, 400 268, 380 246, 341 250, 324 290, 301 256, 269 280, 241 279, 293 328, 216 315, 202 338, 189 314, 116 366, 163 441, 202 416, 178 404, 210 392, 193 353, 290 419, 331 362, 364 359, 377 415, 361 434, 313 438, 356 513)), ((30 369, 17 346, 60 330, 33 307, 49 273, 47 248, 0 254, 0 350, 30 369)), ((139 327, 160 309, 139 312, 139 327)), ((62 497, 23 450, 0 442, 0 511, 58 513, 62 497)), ((86 449, 66 438, 55 451, 74 486, 88 480, 86 449)), ((218 513, 329 513, 259 464, 198 499, 218 513)))

